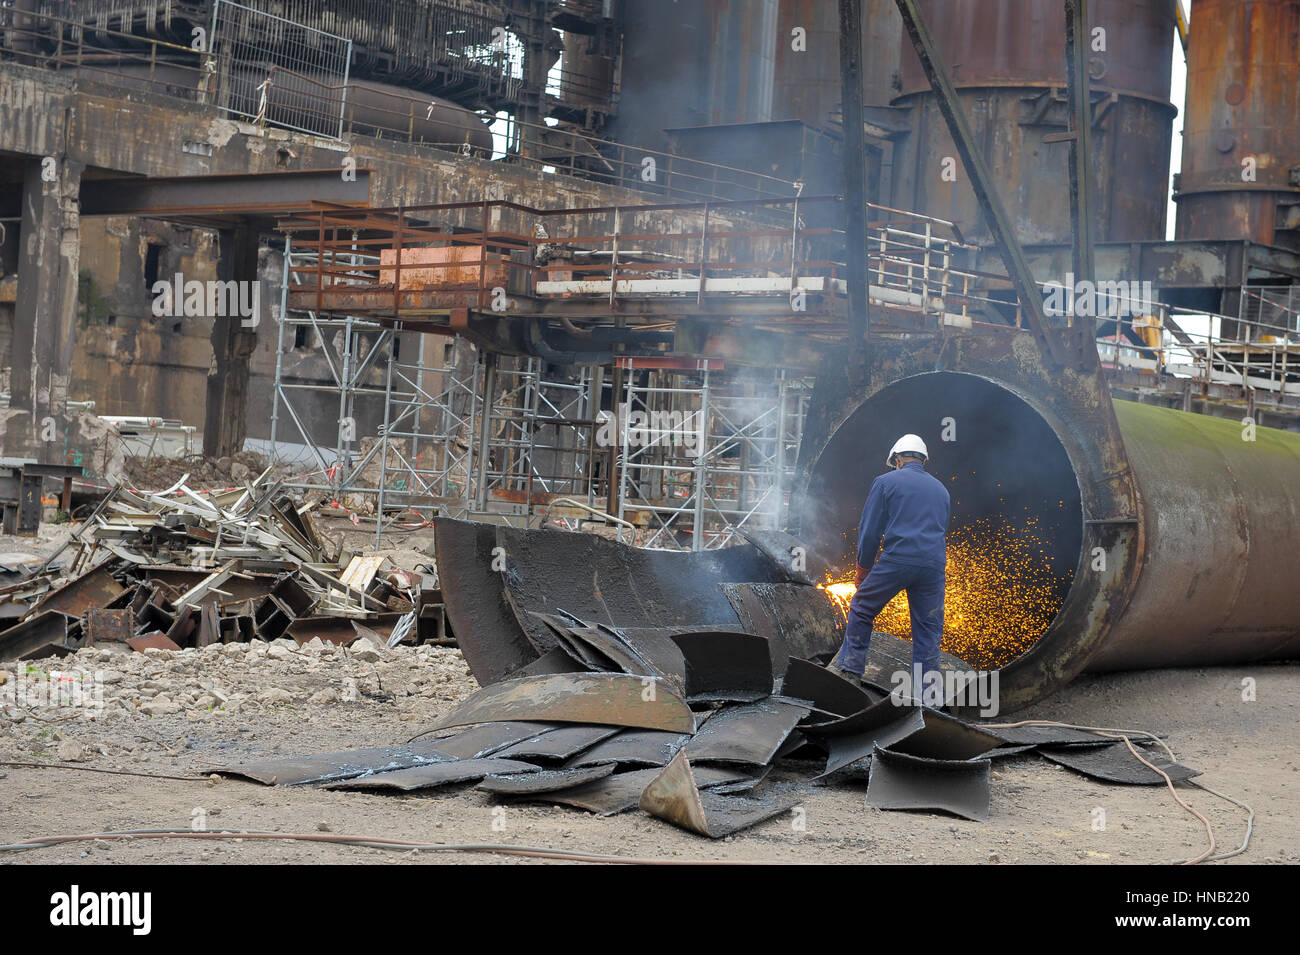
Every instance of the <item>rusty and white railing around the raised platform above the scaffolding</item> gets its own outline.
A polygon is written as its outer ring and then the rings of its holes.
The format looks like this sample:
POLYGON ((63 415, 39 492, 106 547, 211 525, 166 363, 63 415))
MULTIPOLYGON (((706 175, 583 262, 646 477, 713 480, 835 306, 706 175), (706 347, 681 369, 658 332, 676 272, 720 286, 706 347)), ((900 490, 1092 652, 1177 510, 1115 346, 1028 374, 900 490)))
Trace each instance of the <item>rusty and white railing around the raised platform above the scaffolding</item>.
MULTIPOLYGON (((614 311, 627 299, 702 305, 749 295, 772 299, 775 311, 798 318, 807 296, 824 303, 845 295, 842 230, 809 226, 805 218, 810 209, 835 213, 841 201, 816 196, 538 209, 498 200, 332 209, 312 214, 313 229, 298 220, 295 243, 318 252, 318 268, 304 286, 316 292, 318 311, 398 317, 433 299, 442 307, 494 309, 503 295, 598 299, 614 311), (679 225, 673 231, 638 225, 647 221, 679 225), (364 278, 351 264, 356 248, 380 261, 364 278), (335 253, 342 264, 333 261, 335 253), (781 298, 788 298, 784 307, 781 298)), ((868 208, 874 300, 944 324, 1017 322, 1014 301, 985 291, 991 277, 959 266, 978 249, 950 222, 868 208)))

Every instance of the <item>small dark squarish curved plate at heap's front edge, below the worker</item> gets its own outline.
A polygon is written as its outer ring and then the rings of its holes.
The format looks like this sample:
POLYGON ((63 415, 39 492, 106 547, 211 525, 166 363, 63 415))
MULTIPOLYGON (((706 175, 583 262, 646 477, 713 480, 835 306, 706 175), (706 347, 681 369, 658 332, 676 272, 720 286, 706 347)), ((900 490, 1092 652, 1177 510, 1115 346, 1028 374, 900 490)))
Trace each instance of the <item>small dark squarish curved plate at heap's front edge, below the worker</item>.
POLYGON ((976 822, 988 821, 987 759, 945 760, 881 750, 871 754, 867 806, 878 809, 942 809, 976 822))

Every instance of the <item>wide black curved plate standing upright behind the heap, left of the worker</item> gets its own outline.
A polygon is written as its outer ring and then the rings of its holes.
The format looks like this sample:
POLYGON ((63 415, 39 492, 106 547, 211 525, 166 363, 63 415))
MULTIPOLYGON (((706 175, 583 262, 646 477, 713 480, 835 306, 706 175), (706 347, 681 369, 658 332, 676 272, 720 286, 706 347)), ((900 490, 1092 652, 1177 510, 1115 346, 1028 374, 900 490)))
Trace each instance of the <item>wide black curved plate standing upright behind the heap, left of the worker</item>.
POLYGON ((785 572, 750 544, 715 551, 654 551, 593 534, 494 528, 504 548, 506 594, 519 626, 540 650, 554 646, 530 612, 563 607, 589 625, 738 626, 724 581, 783 581, 785 572))

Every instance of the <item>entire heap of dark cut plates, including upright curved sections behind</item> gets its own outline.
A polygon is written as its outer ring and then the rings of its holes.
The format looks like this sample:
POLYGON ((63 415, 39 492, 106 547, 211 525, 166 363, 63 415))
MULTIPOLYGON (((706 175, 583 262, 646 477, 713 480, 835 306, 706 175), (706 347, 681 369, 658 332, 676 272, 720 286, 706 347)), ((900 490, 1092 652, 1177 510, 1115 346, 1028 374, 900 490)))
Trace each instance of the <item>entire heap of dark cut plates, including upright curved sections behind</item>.
MULTIPOLYGON (((269 785, 389 793, 474 782, 494 799, 601 815, 640 807, 712 838, 792 809, 810 785, 854 780, 867 781, 867 806, 987 820, 991 761, 1032 750, 1095 778, 1164 782, 1113 738, 972 724, 824 669, 816 660, 835 648, 838 631, 815 586, 767 579, 742 581, 748 590, 737 590, 737 582, 705 573, 712 560, 719 573, 766 568, 780 576, 759 548, 706 559, 454 521, 437 533, 450 622, 463 646, 472 634, 467 657, 473 647, 480 667, 499 668, 507 652, 530 650, 532 659, 506 678, 476 669, 484 687, 402 746, 217 772, 269 785), (488 544, 482 561, 469 559, 452 573, 450 561, 463 560, 464 548, 488 544), (547 596, 533 574, 578 552, 589 560, 569 563, 554 579, 547 609, 537 609, 547 596), (482 590, 456 594, 452 578, 482 590), (680 603, 682 592, 701 603, 680 603), (723 612, 728 592, 736 600, 731 621, 723 612), (451 613, 454 605, 497 616, 463 618, 451 613), (586 609, 580 616, 572 607, 586 609), (651 607, 681 618, 649 625, 651 607), (632 622, 610 620, 614 612, 632 622), (763 622, 754 629, 766 634, 746 631, 755 616, 763 622), (816 620, 824 622, 820 637, 816 620), (514 630, 506 626, 511 621, 514 630), (811 647, 815 659, 788 654, 792 643, 811 647)), ((890 673, 906 669, 909 657, 906 642, 878 634, 868 667, 890 673)), ((1174 780, 1196 774, 1153 754, 1148 759, 1174 780)))

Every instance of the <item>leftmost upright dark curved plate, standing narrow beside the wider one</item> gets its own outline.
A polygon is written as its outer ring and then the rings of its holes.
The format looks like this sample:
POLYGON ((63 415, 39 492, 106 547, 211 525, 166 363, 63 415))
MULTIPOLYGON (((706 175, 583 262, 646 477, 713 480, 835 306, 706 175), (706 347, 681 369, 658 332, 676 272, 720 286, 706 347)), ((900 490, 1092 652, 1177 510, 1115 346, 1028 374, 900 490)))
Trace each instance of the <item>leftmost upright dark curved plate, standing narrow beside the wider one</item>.
POLYGON ((503 574, 491 569, 497 529, 434 517, 433 533, 447 621, 474 680, 486 686, 536 660, 537 648, 506 603, 503 574))

